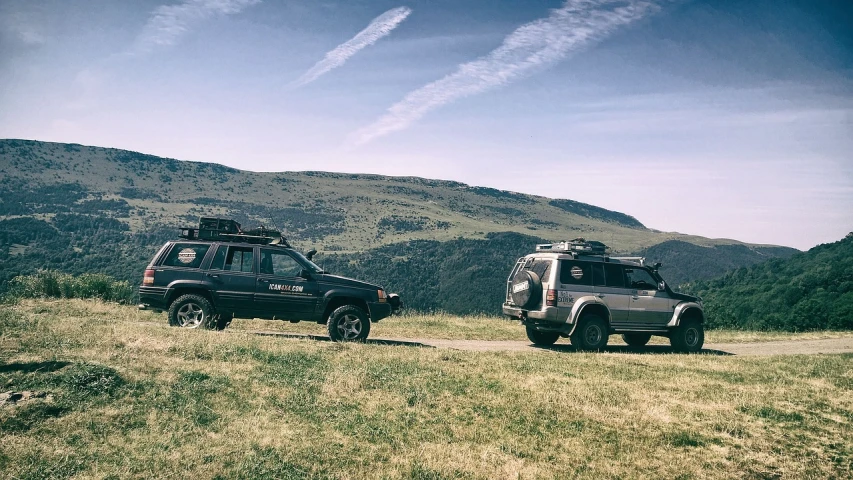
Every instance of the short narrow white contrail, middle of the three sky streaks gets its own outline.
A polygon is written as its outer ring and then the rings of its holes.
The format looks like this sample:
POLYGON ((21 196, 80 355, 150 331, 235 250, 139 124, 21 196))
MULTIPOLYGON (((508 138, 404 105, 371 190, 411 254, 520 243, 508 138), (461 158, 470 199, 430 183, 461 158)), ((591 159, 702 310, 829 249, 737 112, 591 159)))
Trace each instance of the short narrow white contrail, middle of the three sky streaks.
POLYGON ((364 47, 368 47, 376 43, 380 38, 391 33, 397 28, 409 14, 412 9, 409 7, 397 7, 388 10, 387 12, 374 18, 370 25, 364 30, 358 32, 358 35, 352 37, 346 42, 338 45, 334 50, 326 54, 326 56, 305 72, 301 77, 294 80, 290 86, 293 88, 301 87, 307 83, 317 80, 321 75, 327 73, 333 68, 340 67, 350 57, 358 53, 364 47))

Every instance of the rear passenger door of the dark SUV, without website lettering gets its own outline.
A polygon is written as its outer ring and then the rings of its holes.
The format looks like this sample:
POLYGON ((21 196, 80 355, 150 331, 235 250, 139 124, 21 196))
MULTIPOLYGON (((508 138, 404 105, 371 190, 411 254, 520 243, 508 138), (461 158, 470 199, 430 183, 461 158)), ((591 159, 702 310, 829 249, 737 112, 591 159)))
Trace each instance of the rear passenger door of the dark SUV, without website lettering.
POLYGON ((221 244, 207 270, 220 313, 250 316, 255 297, 255 248, 221 244))

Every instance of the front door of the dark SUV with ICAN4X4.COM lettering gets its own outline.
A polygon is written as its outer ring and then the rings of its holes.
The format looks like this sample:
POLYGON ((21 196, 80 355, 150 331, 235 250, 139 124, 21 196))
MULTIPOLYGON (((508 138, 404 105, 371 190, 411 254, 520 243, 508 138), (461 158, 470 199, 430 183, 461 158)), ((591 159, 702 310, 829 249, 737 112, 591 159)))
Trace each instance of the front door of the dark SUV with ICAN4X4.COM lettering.
POLYGON ((255 309, 264 317, 307 319, 319 300, 317 281, 287 250, 261 248, 255 309))

